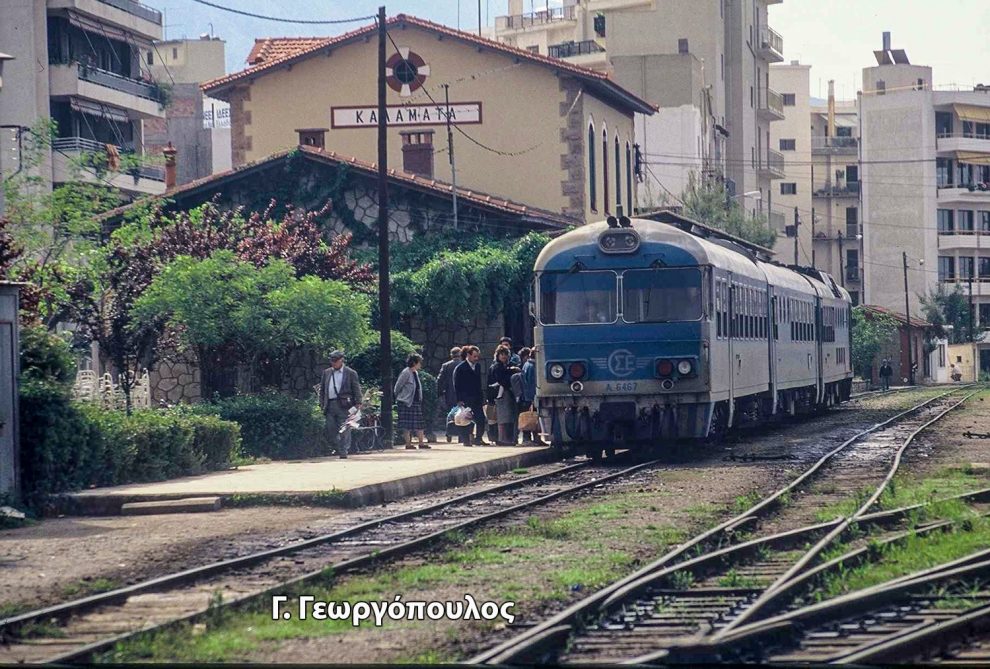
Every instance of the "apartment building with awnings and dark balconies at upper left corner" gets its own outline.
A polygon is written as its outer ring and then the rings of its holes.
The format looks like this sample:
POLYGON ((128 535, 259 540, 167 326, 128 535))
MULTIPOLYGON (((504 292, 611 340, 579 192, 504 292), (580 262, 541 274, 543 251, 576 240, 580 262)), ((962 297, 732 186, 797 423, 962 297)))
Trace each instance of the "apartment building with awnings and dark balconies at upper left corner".
MULTIPOLYGON (((97 175, 74 167, 84 152, 141 153, 142 121, 165 116, 167 88, 149 72, 162 15, 136 0, 4 0, 0 44, 15 56, 0 96, 0 171, 20 167, 23 133, 39 118, 58 124, 45 181, 108 183, 130 196, 164 190, 161 168, 134 167, 97 175)), ((126 163, 127 161, 125 161, 126 163)))

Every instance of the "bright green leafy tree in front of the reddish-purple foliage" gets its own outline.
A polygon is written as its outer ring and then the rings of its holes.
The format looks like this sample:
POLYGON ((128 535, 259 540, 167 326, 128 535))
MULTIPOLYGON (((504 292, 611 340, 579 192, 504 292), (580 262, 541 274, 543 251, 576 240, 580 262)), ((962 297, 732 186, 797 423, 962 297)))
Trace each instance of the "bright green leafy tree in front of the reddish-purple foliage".
POLYGON ((169 263, 135 302, 133 319, 161 319, 179 349, 195 356, 210 396, 228 390, 221 373, 232 364, 256 372, 261 361, 284 361, 302 346, 360 351, 371 341, 369 313, 368 297, 343 282, 296 278, 283 260, 259 268, 221 250, 169 263))

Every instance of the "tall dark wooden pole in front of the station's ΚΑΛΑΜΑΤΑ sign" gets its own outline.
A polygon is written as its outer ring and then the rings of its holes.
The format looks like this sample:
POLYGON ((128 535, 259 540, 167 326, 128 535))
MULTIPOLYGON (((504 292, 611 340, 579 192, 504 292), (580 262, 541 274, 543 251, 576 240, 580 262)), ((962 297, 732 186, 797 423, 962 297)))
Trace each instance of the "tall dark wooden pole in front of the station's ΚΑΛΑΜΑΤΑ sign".
POLYGON ((382 412, 386 448, 392 446, 392 307, 388 257, 388 119, 385 107, 385 6, 378 8, 378 329, 381 337, 382 412))

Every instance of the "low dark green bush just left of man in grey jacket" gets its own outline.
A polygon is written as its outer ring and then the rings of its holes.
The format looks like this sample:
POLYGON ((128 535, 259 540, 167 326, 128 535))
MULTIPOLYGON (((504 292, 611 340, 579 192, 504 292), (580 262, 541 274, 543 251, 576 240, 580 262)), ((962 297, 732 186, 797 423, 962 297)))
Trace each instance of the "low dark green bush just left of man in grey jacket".
POLYGON ((277 392, 236 395, 187 411, 240 425, 244 455, 287 459, 324 454, 323 416, 315 394, 302 400, 277 392))

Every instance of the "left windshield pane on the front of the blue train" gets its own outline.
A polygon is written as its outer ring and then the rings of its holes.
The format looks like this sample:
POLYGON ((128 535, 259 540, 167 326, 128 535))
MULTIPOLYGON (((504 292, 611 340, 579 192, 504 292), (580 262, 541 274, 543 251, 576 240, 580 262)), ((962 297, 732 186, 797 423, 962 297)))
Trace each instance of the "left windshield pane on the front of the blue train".
POLYGON ((540 274, 540 322, 543 325, 614 323, 618 319, 615 272, 543 272, 540 274))

